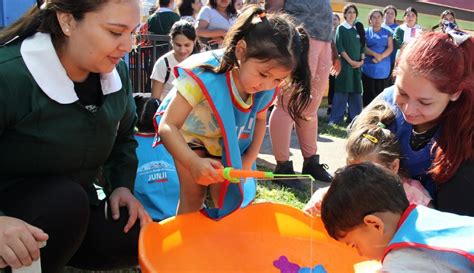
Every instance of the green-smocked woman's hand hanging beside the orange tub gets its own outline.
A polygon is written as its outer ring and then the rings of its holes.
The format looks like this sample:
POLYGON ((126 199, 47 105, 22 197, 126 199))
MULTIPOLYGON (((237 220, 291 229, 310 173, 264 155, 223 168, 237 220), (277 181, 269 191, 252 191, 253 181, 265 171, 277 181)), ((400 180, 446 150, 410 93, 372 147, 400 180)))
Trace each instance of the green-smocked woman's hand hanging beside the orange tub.
POLYGON ((151 217, 143 208, 143 205, 133 196, 129 189, 125 187, 116 188, 109 198, 110 210, 112 211, 112 218, 118 220, 120 218, 120 207, 127 207, 128 221, 123 232, 127 233, 135 224, 137 219, 140 220, 140 226, 151 222, 151 217))

